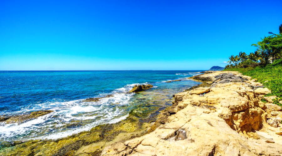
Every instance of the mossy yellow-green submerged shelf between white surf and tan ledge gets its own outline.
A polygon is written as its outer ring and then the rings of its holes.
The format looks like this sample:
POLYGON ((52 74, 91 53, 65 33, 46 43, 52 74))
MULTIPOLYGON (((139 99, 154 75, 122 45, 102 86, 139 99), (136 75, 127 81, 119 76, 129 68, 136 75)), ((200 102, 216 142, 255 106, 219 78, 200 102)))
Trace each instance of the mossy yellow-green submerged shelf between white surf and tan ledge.
MULTIPOLYGON (((167 97, 166 94, 157 94, 154 90, 138 93, 137 100, 140 101, 144 96, 151 97, 152 95, 156 97, 155 101, 162 101, 163 104, 158 103, 158 105, 151 107, 136 105, 133 111, 129 112, 126 119, 120 122, 98 125, 89 131, 60 139, 32 139, 23 142, 14 141, 12 144, 9 142, 3 143, 6 145, 0 150, 0 155, 79 155, 83 153, 101 155, 102 149, 107 145, 140 137, 147 133, 150 123, 156 120, 158 112, 167 107, 173 99, 173 94, 167 97)), ((153 102, 152 100, 149 101, 153 102)))

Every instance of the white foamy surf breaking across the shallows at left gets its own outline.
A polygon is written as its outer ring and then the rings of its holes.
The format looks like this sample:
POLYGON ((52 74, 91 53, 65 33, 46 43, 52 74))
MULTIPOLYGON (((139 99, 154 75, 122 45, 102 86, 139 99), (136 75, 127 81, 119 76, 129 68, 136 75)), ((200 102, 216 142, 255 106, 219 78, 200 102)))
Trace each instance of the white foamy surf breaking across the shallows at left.
POLYGON ((130 99, 135 94, 128 93, 134 85, 140 84, 128 84, 109 94, 100 94, 98 97, 113 96, 101 98, 97 102, 84 102, 85 99, 79 99, 30 105, 15 113, 24 114, 37 110, 54 112, 22 124, 0 123, 0 141, 59 139, 90 130, 99 124, 119 122, 128 116, 128 110, 123 109, 123 106, 129 105, 130 99), (68 128, 68 125, 74 122, 79 122, 81 126, 68 128))

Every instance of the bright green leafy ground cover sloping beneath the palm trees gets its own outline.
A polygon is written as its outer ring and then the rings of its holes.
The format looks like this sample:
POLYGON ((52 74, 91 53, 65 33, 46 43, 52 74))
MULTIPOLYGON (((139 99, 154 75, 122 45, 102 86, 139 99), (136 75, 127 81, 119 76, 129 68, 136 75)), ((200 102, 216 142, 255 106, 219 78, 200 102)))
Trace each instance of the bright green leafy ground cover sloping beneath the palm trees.
POLYGON ((225 71, 239 71, 243 75, 257 79, 271 90, 271 93, 266 96, 277 96, 278 98, 274 100, 274 103, 282 106, 279 103, 282 100, 282 59, 275 60, 272 64, 265 67, 231 68, 225 69, 225 71))

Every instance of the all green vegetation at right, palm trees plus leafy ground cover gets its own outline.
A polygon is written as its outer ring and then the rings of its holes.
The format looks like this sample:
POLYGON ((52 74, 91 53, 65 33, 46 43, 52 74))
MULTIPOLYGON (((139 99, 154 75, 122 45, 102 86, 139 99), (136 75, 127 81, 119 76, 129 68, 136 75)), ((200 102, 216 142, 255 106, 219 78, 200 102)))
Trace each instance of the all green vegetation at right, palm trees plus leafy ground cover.
MULTIPOLYGON (((282 106, 282 24, 279 26, 279 34, 271 34, 264 37, 257 44, 257 50, 247 55, 239 52, 239 55, 229 56, 229 65, 225 71, 239 71, 244 75, 257 79, 271 90, 271 95, 277 96, 274 104, 282 106)), ((266 102, 265 100, 262 100, 266 102)))

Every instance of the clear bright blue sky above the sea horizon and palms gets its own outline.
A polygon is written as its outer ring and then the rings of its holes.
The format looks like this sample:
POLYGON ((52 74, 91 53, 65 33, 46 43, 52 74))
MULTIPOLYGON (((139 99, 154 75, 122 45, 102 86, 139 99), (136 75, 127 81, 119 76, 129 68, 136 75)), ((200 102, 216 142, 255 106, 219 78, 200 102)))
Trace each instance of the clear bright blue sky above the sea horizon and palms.
POLYGON ((0 0, 0 70, 206 70, 280 24, 281 0, 0 0))

